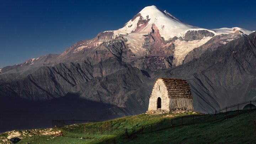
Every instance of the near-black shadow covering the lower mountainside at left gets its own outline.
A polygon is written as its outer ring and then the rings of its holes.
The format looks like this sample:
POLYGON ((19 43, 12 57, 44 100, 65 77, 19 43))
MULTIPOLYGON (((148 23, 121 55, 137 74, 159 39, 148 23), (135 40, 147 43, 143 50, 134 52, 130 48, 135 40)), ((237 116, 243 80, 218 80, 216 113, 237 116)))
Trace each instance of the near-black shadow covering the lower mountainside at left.
POLYGON ((0 132, 48 128, 52 127, 52 119, 103 121, 129 115, 120 107, 85 100, 76 94, 68 94, 50 101, 0 97, 0 108, 0 132))

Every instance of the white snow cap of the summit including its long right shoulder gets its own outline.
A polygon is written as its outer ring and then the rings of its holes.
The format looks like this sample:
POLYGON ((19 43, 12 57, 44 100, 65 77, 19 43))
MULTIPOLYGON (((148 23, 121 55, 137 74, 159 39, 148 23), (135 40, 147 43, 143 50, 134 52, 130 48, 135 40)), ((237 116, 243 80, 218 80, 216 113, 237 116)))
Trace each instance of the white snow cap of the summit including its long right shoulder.
MULTIPOLYGON (((249 35, 252 31, 248 31, 239 27, 233 28, 219 28, 208 30, 196 26, 187 25, 186 23, 181 22, 178 18, 174 17, 169 12, 161 11, 156 6, 147 6, 144 7, 137 15, 135 15, 130 21, 128 21, 123 28, 120 28, 113 32, 112 38, 126 36, 131 39, 142 38, 145 34, 148 34, 152 31, 151 27, 155 26, 159 30, 159 34, 165 41, 173 37, 184 37, 188 31, 199 31, 205 30, 214 35, 220 34, 241 34, 249 35), (134 36, 136 33, 136 36, 134 36)), ((129 39, 128 38, 128 39, 129 39)))

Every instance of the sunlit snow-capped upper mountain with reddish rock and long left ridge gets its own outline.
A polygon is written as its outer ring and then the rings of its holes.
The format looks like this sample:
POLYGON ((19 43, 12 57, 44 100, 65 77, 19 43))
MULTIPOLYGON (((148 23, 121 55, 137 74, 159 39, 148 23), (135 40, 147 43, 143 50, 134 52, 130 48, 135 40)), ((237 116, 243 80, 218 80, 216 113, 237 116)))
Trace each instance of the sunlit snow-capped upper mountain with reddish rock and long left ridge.
MULTIPOLYGON (((114 42, 123 43, 122 51, 127 52, 119 57, 125 62, 137 65, 138 68, 141 68, 140 66, 148 68, 147 64, 138 64, 137 59, 145 59, 143 58, 145 56, 148 57, 146 59, 154 57, 158 59, 161 66, 150 68, 151 70, 170 68, 183 64, 189 52, 201 47, 215 36, 226 34, 222 37, 224 38, 222 41, 217 42, 223 45, 250 33, 252 31, 239 27, 208 30, 191 26, 181 22, 166 10, 161 11, 156 6, 147 6, 118 30, 101 32, 91 40, 79 41, 62 54, 45 55, 19 65, 2 68, 0 73, 16 73, 31 67, 54 66, 58 63, 80 63, 88 58, 97 63, 99 59, 103 57, 107 59, 111 56, 103 54, 95 57, 93 55, 96 49, 110 50, 109 47, 112 47, 114 42), (23 68, 19 68, 21 66, 23 68), (27 67, 24 68, 24 66, 27 67)), ((110 51, 110 53, 114 52, 110 51)))

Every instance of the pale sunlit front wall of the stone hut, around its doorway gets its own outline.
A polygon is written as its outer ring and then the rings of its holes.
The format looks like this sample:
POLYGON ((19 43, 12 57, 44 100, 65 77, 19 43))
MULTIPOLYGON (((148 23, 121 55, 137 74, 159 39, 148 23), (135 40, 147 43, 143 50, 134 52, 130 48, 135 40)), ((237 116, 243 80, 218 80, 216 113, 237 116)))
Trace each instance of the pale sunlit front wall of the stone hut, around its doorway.
POLYGON ((149 108, 148 111, 155 111, 157 110, 157 99, 158 97, 161 98, 161 110, 170 111, 169 108, 169 101, 170 98, 168 96, 167 87, 164 84, 162 79, 156 80, 153 90, 151 92, 151 96, 149 99, 149 108), (160 90, 159 90, 160 86, 160 90))

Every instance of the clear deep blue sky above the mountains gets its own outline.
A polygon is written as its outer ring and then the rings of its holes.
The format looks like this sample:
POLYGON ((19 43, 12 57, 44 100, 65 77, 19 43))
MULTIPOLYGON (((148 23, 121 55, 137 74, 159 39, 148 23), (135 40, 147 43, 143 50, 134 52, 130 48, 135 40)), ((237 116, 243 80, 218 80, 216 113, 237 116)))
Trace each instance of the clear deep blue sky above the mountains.
POLYGON ((0 68, 121 28, 145 6, 203 28, 256 30, 255 0, 0 0, 0 68))

